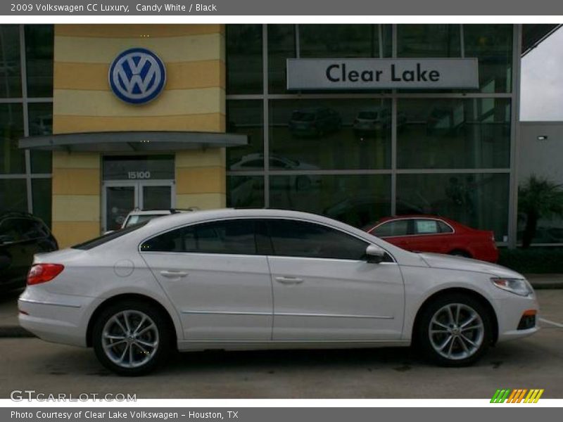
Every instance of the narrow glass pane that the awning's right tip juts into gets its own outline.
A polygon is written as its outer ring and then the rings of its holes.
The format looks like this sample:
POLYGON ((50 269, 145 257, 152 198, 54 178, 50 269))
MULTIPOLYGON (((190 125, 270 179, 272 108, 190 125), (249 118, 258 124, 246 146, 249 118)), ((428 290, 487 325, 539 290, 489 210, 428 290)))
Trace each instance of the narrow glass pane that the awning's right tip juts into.
POLYGON ((264 168, 264 113, 262 101, 227 101, 227 132, 248 135, 248 145, 227 148, 231 171, 264 168))

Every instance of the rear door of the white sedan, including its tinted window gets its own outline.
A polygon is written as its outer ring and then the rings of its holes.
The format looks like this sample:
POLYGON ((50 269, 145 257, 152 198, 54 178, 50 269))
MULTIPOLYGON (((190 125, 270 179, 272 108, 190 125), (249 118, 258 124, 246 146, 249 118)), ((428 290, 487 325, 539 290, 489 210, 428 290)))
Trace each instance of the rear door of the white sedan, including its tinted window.
POLYGON ((272 282, 266 256, 257 253, 255 224, 193 224, 141 244, 179 312, 185 340, 271 340, 272 282))

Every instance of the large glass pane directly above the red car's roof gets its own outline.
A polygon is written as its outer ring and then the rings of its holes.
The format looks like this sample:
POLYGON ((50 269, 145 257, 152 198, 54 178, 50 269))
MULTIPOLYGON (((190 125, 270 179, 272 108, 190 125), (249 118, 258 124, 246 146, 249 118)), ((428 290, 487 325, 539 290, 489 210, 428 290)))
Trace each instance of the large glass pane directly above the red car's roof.
MULTIPOLYGON (((426 214, 448 217, 474 229, 507 236, 508 174, 399 174, 398 200, 426 214)), ((402 214, 397 210, 398 214, 402 214)))

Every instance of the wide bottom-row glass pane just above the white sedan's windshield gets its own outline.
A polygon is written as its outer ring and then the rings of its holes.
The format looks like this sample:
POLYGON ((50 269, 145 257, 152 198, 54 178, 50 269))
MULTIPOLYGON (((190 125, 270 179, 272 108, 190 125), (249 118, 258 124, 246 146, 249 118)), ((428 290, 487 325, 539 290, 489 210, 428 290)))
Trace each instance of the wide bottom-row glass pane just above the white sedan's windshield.
POLYGON ((326 215, 356 227, 388 216, 390 197, 387 174, 270 177, 270 207, 326 215))

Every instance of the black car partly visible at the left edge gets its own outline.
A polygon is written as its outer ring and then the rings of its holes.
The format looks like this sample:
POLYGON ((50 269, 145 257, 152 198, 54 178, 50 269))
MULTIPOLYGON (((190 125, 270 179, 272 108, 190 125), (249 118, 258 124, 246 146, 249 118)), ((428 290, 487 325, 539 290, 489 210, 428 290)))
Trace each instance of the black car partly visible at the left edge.
POLYGON ((57 250, 49 227, 27 212, 0 215, 0 291, 25 286, 33 255, 57 250))

